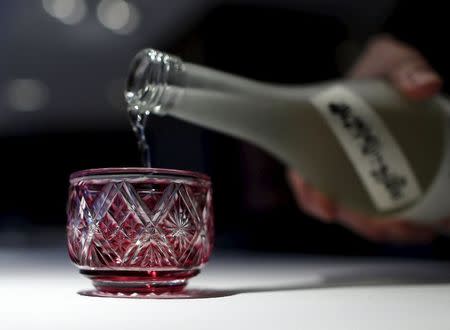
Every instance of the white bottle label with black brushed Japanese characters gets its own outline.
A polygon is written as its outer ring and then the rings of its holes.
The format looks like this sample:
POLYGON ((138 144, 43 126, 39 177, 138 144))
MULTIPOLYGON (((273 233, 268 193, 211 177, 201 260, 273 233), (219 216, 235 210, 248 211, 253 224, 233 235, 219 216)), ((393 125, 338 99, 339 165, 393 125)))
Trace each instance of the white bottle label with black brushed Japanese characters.
POLYGON ((311 101, 336 135, 377 210, 394 210, 421 196, 403 151, 369 104, 343 86, 326 89, 311 101))

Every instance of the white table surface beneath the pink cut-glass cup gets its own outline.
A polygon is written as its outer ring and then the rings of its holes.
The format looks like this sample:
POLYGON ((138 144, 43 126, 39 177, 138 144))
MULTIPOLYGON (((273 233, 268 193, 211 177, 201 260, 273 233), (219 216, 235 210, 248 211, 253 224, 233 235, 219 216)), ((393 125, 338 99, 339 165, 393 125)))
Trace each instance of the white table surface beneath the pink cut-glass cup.
POLYGON ((189 285, 215 298, 94 298, 64 251, 3 249, 0 329, 450 329, 449 283, 450 263, 228 255, 189 285))

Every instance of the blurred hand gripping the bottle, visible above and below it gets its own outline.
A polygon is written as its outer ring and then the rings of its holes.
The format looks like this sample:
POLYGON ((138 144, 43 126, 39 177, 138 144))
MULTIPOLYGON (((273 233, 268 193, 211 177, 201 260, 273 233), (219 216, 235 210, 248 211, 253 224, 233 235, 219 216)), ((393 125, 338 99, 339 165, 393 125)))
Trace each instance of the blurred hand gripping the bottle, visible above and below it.
MULTIPOLYGON (((350 78, 387 78, 414 100, 431 97, 442 86, 441 77, 416 49, 387 35, 378 36, 368 43, 348 75, 350 78)), ((295 171, 289 170, 287 176, 299 207, 323 222, 337 221, 378 242, 421 243, 432 240, 436 235, 431 227, 405 219, 374 218, 346 209, 314 189, 295 171)), ((450 220, 442 223, 448 224, 450 220)))

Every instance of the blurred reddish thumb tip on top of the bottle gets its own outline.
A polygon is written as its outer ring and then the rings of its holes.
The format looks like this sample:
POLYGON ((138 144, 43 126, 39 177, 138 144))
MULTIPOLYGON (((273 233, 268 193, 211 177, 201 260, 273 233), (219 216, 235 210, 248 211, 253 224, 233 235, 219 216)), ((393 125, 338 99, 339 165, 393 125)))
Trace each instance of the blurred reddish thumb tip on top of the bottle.
POLYGON ((442 87, 442 78, 421 57, 398 63, 387 77, 413 100, 431 97, 442 87))

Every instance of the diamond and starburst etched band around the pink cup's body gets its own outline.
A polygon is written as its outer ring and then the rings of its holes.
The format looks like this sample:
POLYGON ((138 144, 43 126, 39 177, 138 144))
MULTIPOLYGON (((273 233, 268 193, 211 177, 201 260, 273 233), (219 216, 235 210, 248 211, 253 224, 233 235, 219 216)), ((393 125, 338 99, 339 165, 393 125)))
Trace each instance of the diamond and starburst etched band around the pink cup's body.
POLYGON ((69 190, 69 255, 88 268, 198 267, 211 253, 211 208, 205 184, 80 180, 69 190))

